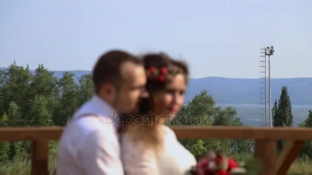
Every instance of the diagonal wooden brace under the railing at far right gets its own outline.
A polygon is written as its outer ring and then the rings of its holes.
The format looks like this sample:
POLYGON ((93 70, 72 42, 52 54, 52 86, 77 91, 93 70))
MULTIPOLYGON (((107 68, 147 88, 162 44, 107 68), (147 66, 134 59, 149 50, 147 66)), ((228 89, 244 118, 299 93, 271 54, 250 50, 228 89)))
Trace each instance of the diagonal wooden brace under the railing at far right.
POLYGON ((288 141, 277 159, 277 174, 286 174, 304 146, 303 140, 288 141))

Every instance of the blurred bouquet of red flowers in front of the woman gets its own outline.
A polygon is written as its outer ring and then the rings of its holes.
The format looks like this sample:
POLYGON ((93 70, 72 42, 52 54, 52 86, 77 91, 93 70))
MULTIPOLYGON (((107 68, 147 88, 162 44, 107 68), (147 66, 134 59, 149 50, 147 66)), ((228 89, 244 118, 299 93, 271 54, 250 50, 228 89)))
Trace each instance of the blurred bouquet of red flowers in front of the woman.
POLYGON ((231 175, 231 174, 257 174, 262 169, 262 162, 250 159, 238 163, 228 158, 224 152, 209 150, 208 154, 201 158, 196 167, 192 167, 188 174, 192 175, 231 175))

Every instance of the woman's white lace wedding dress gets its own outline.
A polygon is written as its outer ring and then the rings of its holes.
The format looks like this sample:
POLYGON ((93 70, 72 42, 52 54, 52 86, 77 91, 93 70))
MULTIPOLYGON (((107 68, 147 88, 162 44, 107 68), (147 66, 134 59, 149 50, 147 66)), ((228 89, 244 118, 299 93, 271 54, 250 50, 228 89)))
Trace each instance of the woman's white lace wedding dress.
POLYGON ((125 174, 185 174, 196 159, 178 140, 173 130, 163 127, 164 148, 155 150, 135 142, 127 132, 121 138, 121 159, 125 174))

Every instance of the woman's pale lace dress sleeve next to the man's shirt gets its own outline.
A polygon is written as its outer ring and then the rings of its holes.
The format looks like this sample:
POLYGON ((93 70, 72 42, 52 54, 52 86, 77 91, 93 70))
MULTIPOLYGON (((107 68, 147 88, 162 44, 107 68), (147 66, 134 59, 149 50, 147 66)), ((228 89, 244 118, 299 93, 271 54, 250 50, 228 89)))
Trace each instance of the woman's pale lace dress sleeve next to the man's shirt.
POLYGON ((128 134, 122 137, 121 155, 124 171, 127 175, 160 174, 155 152, 140 146, 140 143, 133 141, 128 134))

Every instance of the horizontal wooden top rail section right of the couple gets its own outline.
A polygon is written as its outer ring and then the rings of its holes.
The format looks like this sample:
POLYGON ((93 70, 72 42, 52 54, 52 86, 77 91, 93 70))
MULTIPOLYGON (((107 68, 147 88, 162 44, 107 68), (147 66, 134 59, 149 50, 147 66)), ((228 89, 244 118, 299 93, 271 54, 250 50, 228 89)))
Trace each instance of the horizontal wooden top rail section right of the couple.
POLYGON ((312 140, 311 128, 171 126, 179 139, 312 140))

